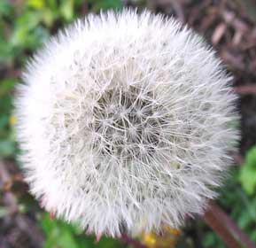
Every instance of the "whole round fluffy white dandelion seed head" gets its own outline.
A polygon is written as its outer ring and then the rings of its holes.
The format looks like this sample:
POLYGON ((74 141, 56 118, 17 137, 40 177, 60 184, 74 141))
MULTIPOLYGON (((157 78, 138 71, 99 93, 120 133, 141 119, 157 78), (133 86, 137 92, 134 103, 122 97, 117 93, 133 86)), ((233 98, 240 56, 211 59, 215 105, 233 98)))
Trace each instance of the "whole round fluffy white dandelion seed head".
POLYGON ((27 66, 21 160, 44 207, 89 232, 178 227, 231 159, 236 96, 219 59, 174 19, 89 15, 27 66))

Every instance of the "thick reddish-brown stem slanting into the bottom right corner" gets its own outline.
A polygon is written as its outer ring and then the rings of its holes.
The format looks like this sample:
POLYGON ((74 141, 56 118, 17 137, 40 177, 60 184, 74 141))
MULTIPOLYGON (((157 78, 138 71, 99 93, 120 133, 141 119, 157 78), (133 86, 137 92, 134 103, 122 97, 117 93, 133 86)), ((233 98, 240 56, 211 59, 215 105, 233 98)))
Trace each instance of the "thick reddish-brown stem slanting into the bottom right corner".
POLYGON ((256 248, 250 238, 238 229, 234 221, 221 210, 221 207, 211 201, 208 210, 203 216, 204 221, 210 226, 230 248, 256 248))

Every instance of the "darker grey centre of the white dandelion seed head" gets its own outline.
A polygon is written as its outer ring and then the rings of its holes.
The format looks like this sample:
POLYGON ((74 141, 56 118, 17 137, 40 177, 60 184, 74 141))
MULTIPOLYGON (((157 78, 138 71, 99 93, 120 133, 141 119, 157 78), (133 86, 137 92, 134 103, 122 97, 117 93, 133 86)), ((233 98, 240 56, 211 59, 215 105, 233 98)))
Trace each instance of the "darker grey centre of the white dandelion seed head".
POLYGON ((165 122, 155 114, 160 109, 152 93, 144 93, 144 89, 106 91, 93 110, 94 122, 90 128, 97 133, 94 149, 121 159, 152 156, 165 122))

